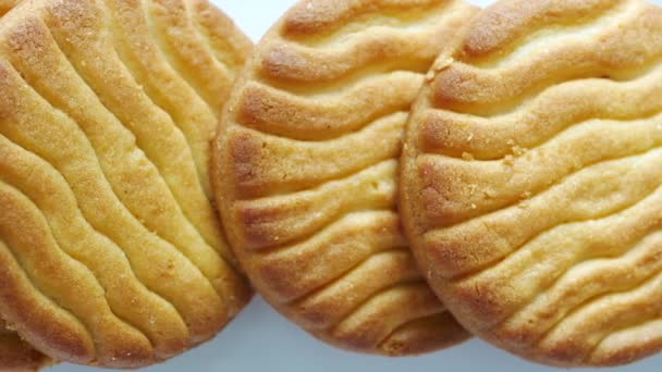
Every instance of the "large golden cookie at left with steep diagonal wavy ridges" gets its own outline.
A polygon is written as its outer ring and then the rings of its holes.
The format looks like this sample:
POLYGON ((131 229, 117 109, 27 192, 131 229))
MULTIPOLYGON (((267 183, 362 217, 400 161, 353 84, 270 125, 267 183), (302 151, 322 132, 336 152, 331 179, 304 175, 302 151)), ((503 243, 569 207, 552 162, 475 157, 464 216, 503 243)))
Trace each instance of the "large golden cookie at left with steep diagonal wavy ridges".
POLYGON ((203 0, 36 0, 0 24, 0 313, 58 360, 155 363, 250 290, 210 202, 249 41, 203 0))

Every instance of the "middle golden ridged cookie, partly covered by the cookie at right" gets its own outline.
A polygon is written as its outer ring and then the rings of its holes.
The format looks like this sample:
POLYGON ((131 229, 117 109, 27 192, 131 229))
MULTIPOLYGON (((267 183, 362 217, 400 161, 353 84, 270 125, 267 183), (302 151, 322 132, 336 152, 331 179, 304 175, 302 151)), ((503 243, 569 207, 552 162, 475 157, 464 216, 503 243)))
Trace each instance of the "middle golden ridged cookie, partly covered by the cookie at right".
POLYGON ((212 158, 223 222, 254 285, 318 338, 381 355, 467 338, 408 250, 395 175, 425 74, 474 12, 302 1, 235 85, 212 158))

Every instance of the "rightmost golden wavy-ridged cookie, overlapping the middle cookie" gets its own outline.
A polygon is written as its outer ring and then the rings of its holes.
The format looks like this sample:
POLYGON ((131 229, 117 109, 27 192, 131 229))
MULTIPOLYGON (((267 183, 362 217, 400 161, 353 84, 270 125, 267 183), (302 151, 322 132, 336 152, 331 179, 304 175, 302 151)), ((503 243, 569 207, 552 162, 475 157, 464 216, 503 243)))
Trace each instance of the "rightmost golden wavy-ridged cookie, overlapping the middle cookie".
POLYGON ((662 348, 662 10, 502 1, 412 115, 402 206, 461 323, 525 358, 662 348))

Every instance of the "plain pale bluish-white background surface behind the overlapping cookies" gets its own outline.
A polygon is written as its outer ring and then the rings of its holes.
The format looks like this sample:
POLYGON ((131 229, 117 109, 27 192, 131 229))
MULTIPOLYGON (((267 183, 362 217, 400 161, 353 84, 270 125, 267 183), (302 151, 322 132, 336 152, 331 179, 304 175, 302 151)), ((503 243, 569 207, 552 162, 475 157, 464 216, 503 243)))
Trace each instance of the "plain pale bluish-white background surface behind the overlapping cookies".
MULTIPOLYGON (((537 0, 531 0, 537 1, 537 0)), ((216 0, 226 14, 255 41, 295 0, 216 0)), ((488 5, 492 1, 473 1, 488 5)), ((662 3, 662 0, 654 1, 662 3)), ((53 372, 90 372, 91 369, 62 364, 53 372)), ((146 369, 150 372, 419 372, 419 371, 556 371, 512 357, 480 340, 471 340, 450 350, 416 358, 390 359, 361 356, 334 349, 274 313, 260 298, 243 311, 214 340, 166 364, 146 369)), ((592 370, 583 370, 591 372, 592 370)), ((597 371, 597 370, 596 370, 597 371)), ((662 371, 662 356, 649 358, 618 372, 662 371)))

